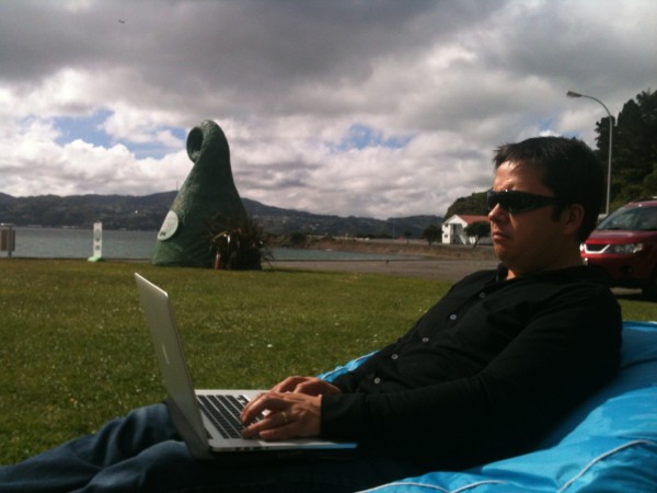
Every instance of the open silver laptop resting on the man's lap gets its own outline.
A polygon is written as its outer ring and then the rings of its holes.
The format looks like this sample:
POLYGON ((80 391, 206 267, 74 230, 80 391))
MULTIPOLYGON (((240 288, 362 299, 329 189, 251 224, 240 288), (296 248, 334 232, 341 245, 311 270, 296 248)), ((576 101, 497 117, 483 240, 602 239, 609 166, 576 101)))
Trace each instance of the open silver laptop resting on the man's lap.
MULTIPOLYGON (((169 295, 137 273, 135 279, 169 393, 172 419, 193 455, 208 458, 215 452, 356 448, 354 443, 321 439, 264 442, 241 438, 240 411, 264 390, 195 390, 169 295)), ((220 362, 217 364, 219 366, 220 362)))

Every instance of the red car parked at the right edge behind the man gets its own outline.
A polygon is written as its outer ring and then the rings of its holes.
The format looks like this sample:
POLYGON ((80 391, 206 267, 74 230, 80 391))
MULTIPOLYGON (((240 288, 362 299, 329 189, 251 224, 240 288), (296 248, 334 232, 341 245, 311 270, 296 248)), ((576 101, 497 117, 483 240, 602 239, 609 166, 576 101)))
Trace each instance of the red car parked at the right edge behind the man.
POLYGON ((606 217, 583 243, 581 257, 602 267, 612 286, 657 298, 657 197, 631 202, 606 217))

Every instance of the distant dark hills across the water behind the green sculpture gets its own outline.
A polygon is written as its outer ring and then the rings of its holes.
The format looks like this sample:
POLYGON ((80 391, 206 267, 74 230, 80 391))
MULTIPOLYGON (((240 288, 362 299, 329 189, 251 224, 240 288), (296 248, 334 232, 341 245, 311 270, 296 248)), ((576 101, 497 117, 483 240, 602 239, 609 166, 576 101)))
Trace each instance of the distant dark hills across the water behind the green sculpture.
MULTIPOLYGON (((12 197, 0 193, 0 222, 16 226, 92 228, 95 221, 105 229, 158 230, 176 192, 145 196, 132 195, 39 195, 12 197)), ((272 207, 242 199, 251 216, 272 234, 328 234, 349 237, 419 238, 430 225, 439 226, 439 216, 411 216, 388 220, 366 217, 318 215, 272 207)))

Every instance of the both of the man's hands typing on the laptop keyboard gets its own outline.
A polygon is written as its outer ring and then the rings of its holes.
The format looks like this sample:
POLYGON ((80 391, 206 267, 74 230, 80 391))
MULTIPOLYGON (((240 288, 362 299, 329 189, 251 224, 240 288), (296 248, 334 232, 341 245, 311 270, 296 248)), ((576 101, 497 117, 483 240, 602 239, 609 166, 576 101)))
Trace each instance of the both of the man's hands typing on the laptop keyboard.
POLYGON ((244 438, 264 440, 319 436, 322 395, 341 390, 315 377, 289 377, 260 394, 242 411, 244 438), (256 423, 253 420, 263 414, 256 423))

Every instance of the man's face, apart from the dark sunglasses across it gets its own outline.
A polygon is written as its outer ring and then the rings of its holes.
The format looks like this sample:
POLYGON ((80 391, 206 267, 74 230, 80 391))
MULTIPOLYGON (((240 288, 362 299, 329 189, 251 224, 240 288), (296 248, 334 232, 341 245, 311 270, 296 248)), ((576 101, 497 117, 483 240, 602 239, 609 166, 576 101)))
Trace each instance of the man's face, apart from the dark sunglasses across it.
MULTIPOLYGON (((509 161, 497 168, 493 191, 554 196, 541 182, 538 171, 509 161)), ((564 236, 563 221, 553 218, 554 207, 546 205, 532 210, 509 213, 497 204, 488 214, 495 253, 509 270, 509 278, 561 268, 572 260, 572 240, 564 236)))

